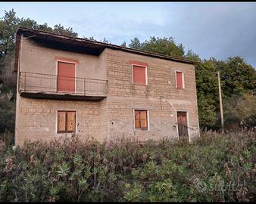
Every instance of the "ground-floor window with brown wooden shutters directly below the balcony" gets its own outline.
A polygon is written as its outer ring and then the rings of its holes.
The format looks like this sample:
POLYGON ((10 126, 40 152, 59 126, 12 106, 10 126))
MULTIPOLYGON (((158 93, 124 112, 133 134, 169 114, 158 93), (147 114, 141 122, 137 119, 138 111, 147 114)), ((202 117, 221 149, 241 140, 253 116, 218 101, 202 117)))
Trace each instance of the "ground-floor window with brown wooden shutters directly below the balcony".
POLYGON ((76 132, 76 111, 58 110, 58 133, 76 132))

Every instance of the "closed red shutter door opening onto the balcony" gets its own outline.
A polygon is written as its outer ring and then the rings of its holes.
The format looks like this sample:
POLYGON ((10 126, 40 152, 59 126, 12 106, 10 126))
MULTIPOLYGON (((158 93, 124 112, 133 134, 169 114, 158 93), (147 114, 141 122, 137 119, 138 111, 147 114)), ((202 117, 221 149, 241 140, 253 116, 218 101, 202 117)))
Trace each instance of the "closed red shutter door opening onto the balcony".
POLYGON ((75 92, 75 73, 75 63, 58 62, 57 90, 65 92, 75 92))

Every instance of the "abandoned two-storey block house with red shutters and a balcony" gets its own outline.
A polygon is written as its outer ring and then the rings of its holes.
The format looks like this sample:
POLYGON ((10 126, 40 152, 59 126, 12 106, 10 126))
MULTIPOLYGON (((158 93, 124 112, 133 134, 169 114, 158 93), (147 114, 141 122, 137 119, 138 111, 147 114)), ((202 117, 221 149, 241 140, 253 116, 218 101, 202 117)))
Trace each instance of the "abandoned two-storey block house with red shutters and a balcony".
POLYGON ((15 144, 199 135, 195 62, 19 27, 15 144))

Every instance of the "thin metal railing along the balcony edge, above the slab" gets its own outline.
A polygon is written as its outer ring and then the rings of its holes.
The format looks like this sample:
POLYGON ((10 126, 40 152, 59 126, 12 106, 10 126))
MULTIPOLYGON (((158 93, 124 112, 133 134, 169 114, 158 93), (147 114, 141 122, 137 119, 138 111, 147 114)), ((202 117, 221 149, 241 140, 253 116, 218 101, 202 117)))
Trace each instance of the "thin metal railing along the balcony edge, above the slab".
POLYGON ((105 95, 108 94, 108 81, 101 79, 20 72, 19 90, 105 95))

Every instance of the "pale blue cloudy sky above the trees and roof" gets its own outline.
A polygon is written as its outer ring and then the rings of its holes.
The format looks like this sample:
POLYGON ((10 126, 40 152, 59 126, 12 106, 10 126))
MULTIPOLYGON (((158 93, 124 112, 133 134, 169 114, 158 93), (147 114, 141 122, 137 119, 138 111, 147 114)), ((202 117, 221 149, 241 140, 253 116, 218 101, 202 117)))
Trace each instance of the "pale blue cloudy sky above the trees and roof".
POLYGON ((202 59, 240 56, 256 67, 256 2, 0 2, 0 17, 72 27, 79 37, 126 45, 173 37, 202 59))

